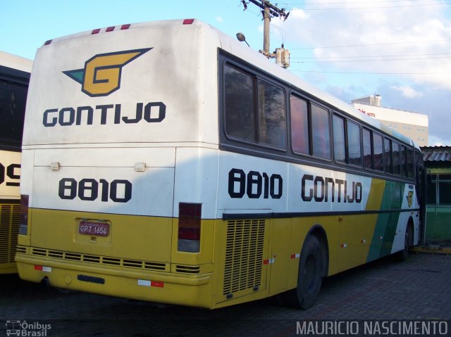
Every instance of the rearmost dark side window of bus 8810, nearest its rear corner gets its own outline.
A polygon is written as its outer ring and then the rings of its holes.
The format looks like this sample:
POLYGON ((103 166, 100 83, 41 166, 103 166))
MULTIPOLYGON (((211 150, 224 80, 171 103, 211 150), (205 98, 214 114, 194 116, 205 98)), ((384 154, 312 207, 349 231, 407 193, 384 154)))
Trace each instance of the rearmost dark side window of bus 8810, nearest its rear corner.
POLYGON ((254 80, 244 72, 224 67, 226 134, 257 141, 254 109, 254 80))

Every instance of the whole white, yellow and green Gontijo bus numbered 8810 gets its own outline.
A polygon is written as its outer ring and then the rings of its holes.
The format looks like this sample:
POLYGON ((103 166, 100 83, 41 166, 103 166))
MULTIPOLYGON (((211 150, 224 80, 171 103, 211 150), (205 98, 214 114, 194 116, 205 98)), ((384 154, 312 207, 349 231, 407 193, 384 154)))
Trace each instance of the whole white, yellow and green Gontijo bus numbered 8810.
POLYGON ((418 243, 419 148, 198 20, 50 40, 28 100, 23 279, 307 308, 418 243))

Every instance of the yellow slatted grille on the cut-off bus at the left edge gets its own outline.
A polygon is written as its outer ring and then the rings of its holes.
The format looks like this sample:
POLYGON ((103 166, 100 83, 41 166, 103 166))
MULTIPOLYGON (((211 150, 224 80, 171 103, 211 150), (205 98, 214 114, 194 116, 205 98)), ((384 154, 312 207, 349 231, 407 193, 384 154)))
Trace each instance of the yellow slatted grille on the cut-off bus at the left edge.
POLYGON ((14 262, 19 222, 20 204, 0 205, 0 263, 14 262))

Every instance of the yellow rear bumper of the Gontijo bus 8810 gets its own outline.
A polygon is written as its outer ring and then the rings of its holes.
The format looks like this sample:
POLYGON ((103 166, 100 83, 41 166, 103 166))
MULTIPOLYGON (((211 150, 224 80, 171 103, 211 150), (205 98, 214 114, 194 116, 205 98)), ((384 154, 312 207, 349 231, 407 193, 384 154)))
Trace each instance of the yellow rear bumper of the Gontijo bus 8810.
POLYGON ((124 270, 23 253, 16 254, 16 263, 21 279, 32 282, 46 279, 57 288, 156 303, 214 307, 211 298, 213 273, 186 275, 124 270))

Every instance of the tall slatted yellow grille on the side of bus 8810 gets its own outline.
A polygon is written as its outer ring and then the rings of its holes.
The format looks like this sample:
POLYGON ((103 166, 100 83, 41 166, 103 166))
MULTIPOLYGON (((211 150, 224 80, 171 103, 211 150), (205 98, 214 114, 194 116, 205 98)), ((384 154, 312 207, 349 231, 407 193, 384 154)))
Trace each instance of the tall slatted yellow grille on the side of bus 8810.
POLYGON ((260 286, 264 235, 265 220, 228 221, 223 295, 260 286))

